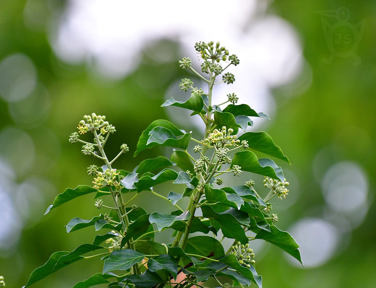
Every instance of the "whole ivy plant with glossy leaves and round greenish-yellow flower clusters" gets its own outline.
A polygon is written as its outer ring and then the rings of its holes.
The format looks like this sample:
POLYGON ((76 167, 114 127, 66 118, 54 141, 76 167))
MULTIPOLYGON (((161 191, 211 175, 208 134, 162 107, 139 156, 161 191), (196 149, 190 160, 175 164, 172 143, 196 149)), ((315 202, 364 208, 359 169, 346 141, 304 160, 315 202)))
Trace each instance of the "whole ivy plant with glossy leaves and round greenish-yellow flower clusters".
POLYGON ((180 102, 171 97, 162 106, 176 106, 190 110, 192 116, 198 115, 195 117, 205 123, 200 139, 194 139, 191 132, 167 120, 156 120, 139 137, 134 156, 155 146, 167 146, 173 147, 170 159, 165 156, 147 159, 132 171, 125 171, 114 162, 130 148, 121 145, 118 155, 109 159, 105 145, 116 132, 115 127, 105 116, 85 115, 69 142, 83 144, 82 153, 103 161, 103 166, 88 167, 93 185, 66 189, 55 198, 46 214, 89 193, 97 199, 96 208, 106 212, 92 219, 75 217, 67 223, 68 233, 85 228, 95 229, 98 235, 92 243, 84 243, 73 251, 53 253, 32 272, 25 288, 73 262, 92 258, 103 268, 76 283, 74 288, 99 284, 112 288, 193 285, 229 288, 252 282, 261 288, 262 278, 255 268, 256 251, 252 249, 254 239, 264 239, 302 262, 298 244, 288 232, 275 226, 277 214, 270 214, 271 200, 284 199, 289 183, 272 159, 258 158, 256 153, 290 164, 289 159, 265 132, 237 136, 240 129, 252 126, 253 117, 269 117, 246 104, 237 104, 234 93, 228 94, 225 102, 217 103, 214 87, 233 83, 235 76, 226 70, 240 61, 220 42, 197 42, 194 47, 202 59, 202 71, 191 66, 190 58, 183 58, 179 64, 206 83, 206 87, 197 88, 192 80, 182 79, 179 87, 190 91, 189 98, 180 102), (93 141, 81 139, 84 134, 94 137, 93 141), (190 146, 191 142, 196 146, 190 146), (256 191, 253 180, 226 186, 221 177, 225 173, 238 177, 245 172, 263 175, 269 191, 256 191), (176 184, 174 191, 165 191, 164 195, 154 191, 154 187, 165 182, 176 184), (174 211, 145 211, 133 204, 144 191, 165 199, 167 205, 174 206, 174 211), (188 205, 182 207, 179 202, 188 205), (191 235, 194 232, 200 233, 191 235), (155 241, 156 233, 168 233, 172 237, 170 243, 155 241), (231 241, 223 241, 226 238, 231 241))

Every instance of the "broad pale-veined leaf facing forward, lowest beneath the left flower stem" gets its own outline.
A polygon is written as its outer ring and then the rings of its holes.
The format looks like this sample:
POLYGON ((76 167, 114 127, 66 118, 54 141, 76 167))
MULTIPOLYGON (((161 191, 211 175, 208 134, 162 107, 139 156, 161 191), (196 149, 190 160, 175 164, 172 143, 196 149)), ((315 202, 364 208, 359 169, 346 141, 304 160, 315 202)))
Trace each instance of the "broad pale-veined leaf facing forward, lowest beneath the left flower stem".
POLYGON ((105 260, 103 274, 113 270, 127 270, 134 264, 143 261, 145 256, 145 254, 132 249, 115 250, 105 260))

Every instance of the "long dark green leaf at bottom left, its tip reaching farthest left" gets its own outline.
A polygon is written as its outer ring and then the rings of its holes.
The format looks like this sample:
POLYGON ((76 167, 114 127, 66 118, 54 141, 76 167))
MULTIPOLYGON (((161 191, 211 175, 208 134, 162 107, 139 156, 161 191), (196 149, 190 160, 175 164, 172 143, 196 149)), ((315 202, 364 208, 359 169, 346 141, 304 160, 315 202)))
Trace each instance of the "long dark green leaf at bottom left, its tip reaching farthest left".
POLYGON ((50 259, 41 267, 36 268, 30 275, 29 280, 27 281, 26 285, 23 288, 26 288, 32 285, 35 282, 49 276, 50 274, 72 264, 83 258, 83 254, 88 252, 104 249, 103 247, 91 245, 91 244, 83 244, 77 247, 72 252, 61 251, 55 252, 50 256, 50 259))

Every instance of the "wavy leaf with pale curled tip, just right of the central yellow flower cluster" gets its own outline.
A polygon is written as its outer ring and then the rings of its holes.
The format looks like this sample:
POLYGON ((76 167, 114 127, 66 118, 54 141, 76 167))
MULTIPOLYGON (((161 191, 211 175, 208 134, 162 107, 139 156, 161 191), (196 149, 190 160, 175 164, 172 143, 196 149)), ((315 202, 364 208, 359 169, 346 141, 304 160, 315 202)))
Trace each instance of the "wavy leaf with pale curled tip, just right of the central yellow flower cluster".
POLYGON ((250 151, 242 151, 235 153, 231 166, 239 165, 242 171, 248 171, 274 179, 285 181, 282 169, 268 158, 257 159, 255 153, 250 151))

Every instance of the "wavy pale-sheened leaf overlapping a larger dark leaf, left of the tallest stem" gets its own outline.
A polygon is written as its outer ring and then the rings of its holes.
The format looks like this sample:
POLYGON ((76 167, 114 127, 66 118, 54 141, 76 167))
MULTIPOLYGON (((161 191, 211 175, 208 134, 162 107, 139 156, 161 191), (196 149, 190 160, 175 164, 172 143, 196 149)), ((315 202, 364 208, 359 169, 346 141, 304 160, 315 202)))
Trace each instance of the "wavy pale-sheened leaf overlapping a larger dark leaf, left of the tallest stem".
POLYGON ((157 126, 149 132, 149 139, 146 142, 147 148, 151 148, 157 144, 167 147, 175 147, 186 150, 191 141, 191 133, 184 133, 181 138, 177 138, 171 130, 157 126))

